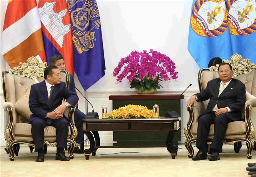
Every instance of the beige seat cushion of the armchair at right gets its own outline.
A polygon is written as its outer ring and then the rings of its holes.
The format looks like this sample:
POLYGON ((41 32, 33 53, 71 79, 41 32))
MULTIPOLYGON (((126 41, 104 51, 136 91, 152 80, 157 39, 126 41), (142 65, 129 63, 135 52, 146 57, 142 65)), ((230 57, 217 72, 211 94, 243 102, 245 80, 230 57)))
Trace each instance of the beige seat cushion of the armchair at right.
MULTIPOLYGON (((197 126, 198 122, 193 122, 191 127, 191 133, 197 134, 197 126)), ((214 131, 214 124, 211 124, 209 135, 213 135, 214 131)), ((227 135, 234 135, 234 134, 245 134, 246 133, 246 124, 244 121, 234 121, 229 122, 228 128, 226 130, 227 135)))

